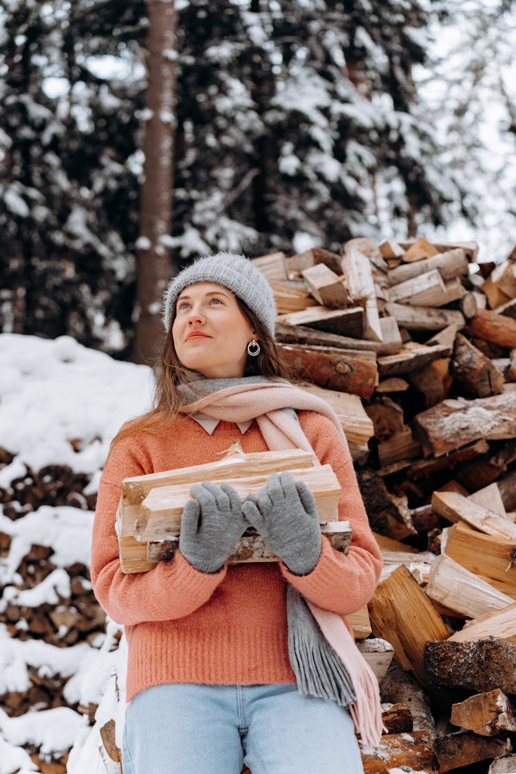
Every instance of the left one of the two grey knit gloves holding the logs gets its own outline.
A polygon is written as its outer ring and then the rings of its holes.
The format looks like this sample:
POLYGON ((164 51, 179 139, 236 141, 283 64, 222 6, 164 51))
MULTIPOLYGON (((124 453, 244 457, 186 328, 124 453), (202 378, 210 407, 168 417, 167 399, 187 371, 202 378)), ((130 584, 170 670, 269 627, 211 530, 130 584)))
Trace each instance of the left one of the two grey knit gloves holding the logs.
POLYGON ((179 549, 196 570, 217 573, 248 528, 237 491, 211 481, 194 484, 181 516, 179 549))

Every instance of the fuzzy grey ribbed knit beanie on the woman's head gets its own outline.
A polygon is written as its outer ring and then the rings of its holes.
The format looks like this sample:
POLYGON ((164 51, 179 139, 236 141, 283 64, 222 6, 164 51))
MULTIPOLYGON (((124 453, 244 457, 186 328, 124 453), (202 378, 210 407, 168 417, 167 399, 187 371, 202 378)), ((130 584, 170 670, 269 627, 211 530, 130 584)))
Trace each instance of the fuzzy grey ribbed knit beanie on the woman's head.
POLYGON ((276 306, 272 288, 265 276, 244 255, 217 252, 194 261, 170 280, 165 291, 163 324, 169 330, 179 293, 193 283, 217 283, 244 301, 274 336, 276 306))

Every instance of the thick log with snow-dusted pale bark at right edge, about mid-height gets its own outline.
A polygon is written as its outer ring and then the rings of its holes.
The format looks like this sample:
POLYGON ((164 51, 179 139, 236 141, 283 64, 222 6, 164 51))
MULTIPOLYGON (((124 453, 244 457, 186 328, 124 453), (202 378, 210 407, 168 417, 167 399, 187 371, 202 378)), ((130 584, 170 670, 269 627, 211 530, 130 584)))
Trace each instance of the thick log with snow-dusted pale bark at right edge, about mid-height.
MULTIPOLYGON (((378 358, 378 370, 381 373, 378 358)), ((422 443, 440 457, 479 438, 504 439, 516 436, 516 394, 502 393, 489 398, 446 399, 414 417, 422 443)))

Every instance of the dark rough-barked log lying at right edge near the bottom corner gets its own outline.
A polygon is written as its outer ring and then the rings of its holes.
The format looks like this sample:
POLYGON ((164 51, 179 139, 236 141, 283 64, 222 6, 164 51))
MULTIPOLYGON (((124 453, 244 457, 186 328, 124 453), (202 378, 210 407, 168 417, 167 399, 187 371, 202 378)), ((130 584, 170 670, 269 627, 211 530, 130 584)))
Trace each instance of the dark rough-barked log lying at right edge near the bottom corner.
POLYGON ((456 687, 476 694, 499 688, 516 694, 516 643, 494 637, 474 642, 427 642, 425 668, 432 687, 456 687))

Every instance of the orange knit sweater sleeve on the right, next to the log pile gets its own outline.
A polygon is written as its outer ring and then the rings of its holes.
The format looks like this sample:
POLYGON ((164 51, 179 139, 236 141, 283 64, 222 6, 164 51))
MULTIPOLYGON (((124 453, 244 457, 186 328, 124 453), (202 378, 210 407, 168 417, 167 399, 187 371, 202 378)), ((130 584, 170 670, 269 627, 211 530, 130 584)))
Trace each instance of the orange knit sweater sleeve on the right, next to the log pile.
POLYGON ((309 601, 339 615, 360 610, 374 594, 381 571, 381 553, 369 526, 346 440, 330 420, 303 412, 299 421, 321 464, 330 464, 341 487, 339 520, 350 522, 349 553, 340 553, 323 537, 323 550, 308 575, 294 575, 281 563, 286 580, 309 601))

